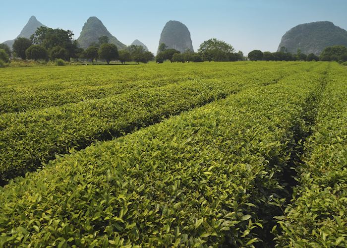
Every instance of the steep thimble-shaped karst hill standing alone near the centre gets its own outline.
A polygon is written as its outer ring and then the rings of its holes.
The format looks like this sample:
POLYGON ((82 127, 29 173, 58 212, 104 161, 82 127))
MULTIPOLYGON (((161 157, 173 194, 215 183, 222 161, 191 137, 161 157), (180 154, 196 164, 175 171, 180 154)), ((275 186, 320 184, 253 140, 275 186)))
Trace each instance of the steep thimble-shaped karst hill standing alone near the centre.
POLYGON ((179 21, 168 21, 163 28, 160 36, 159 45, 165 43, 167 47, 178 50, 184 53, 187 49, 193 50, 193 45, 190 38, 188 28, 179 21))

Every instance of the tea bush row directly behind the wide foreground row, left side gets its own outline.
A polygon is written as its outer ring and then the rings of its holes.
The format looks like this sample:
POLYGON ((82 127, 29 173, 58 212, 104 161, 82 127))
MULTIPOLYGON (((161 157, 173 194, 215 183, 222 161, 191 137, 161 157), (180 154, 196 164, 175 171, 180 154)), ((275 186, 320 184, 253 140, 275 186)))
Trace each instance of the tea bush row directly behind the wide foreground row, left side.
POLYGON ((3 114, 0 180, 4 185, 8 179, 24 175, 72 148, 81 149, 96 140, 123 135, 243 88, 276 83, 295 70, 294 66, 255 72, 231 81, 189 80, 61 107, 3 114))

